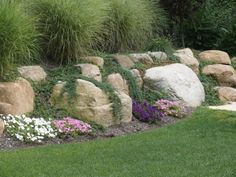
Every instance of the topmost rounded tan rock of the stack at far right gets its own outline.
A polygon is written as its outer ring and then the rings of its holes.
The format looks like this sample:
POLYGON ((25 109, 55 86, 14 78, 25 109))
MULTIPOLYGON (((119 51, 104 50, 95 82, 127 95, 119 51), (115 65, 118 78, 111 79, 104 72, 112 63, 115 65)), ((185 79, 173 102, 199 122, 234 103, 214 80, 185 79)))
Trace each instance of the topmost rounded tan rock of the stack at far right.
POLYGON ((199 54, 201 61, 215 62, 216 64, 230 65, 231 61, 226 52, 220 50, 207 50, 199 54))

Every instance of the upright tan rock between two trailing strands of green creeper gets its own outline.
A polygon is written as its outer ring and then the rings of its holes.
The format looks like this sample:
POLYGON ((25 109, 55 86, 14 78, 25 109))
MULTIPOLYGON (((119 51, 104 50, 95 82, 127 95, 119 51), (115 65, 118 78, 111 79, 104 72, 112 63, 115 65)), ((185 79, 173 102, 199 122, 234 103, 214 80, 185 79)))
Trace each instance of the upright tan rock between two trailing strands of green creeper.
POLYGON ((111 84, 117 91, 121 91, 129 95, 129 86, 126 80, 124 80, 119 73, 110 74, 107 77, 107 83, 111 84))

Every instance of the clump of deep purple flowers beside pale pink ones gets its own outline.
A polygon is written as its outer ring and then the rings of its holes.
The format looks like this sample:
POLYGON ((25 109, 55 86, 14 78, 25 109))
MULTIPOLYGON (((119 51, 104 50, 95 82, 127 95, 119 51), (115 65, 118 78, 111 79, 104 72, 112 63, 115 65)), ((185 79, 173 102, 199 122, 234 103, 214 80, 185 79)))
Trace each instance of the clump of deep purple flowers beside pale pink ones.
POLYGON ((142 122, 161 121, 164 116, 155 106, 147 102, 141 103, 135 100, 133 100, 133 114, 142 122))

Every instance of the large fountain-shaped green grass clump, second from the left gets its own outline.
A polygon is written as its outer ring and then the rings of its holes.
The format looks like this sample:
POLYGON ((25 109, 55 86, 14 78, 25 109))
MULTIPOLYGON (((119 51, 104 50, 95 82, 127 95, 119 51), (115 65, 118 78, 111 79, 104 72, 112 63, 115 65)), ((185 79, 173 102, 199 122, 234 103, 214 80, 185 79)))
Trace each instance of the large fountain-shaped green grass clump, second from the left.
POLYGON ((107 17, 106 4, 104 0, 32 0, 29 8, 38 18, 45 57, 63 64, 89 52, 107 17))

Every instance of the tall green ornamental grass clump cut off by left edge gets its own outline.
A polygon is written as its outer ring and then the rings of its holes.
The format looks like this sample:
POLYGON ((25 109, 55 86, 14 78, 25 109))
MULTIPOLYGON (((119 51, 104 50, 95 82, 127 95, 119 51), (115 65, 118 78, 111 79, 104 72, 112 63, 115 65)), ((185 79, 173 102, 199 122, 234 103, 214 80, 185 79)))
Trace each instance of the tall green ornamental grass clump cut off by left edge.
POLYGON ((0 80, 7 80, 8 72, 17 64, 37 58, 38 33, 33 19, 16 1, 0 1, 0 80))

